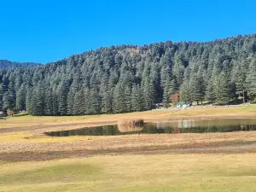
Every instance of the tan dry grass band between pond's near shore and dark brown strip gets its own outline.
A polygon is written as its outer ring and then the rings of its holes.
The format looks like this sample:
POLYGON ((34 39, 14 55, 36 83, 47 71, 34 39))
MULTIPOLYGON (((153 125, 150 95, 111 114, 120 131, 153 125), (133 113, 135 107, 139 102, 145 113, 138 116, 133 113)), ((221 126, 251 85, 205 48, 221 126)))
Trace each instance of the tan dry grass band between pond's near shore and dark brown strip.
MULTIPOLYGON (((237 149, 237 153, 256 151, 256 131, 228 133, 191 133, 191 134, 157 134, 157 135, 125 135, 113 137, 29 137, 29 133, 5 135, 9 139, 0 143, 1 153, 49 153, 53 151, 72 152, 107 150, 108 152, 138 152, 147 150, 186 149, 177 153, 187 153, 187 149, 199 148, 202 153, 209 150, 221 152, 237 149), (24 135, 22 135, 24 134, 24 135), (21 136, 21 137, 20 137, 21 136)), ((3 137, 2 137, 3 138, 3 137)), ((71 154, 72 154, 71 153, 71 154)), ((86 154, 85 153, 85 154, 86 154)), ((214 152, 215 153, 215 152, 214 152)), ((60 154, 61 155, 61 154, 60 154)))

